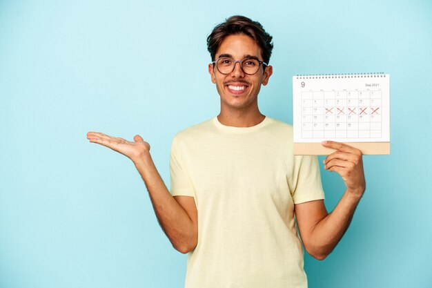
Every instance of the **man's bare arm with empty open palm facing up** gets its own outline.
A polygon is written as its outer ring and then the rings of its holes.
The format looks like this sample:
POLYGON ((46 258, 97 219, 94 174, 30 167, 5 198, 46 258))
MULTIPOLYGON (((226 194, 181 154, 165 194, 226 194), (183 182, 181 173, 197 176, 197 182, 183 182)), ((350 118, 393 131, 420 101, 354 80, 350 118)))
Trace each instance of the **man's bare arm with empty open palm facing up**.
POLYGON ((181 253, 195 249, 198 236, 195 201, 193 197, 174 198, 170 194, 150 156, 150 145, 139 135, 135 135, 135 142, 96 132, 87 133, 87 138, 132 160, 146 184, 157 220, 173 247, 181 253))

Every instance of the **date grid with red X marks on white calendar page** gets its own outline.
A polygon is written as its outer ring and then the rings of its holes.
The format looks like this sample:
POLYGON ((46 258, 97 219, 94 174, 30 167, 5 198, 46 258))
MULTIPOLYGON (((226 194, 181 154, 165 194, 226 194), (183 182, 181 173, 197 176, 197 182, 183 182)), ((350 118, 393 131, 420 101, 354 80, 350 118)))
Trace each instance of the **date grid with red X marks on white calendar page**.
POLYGON ((305 139, 382 137, 381 90, 302 91, 305 139))

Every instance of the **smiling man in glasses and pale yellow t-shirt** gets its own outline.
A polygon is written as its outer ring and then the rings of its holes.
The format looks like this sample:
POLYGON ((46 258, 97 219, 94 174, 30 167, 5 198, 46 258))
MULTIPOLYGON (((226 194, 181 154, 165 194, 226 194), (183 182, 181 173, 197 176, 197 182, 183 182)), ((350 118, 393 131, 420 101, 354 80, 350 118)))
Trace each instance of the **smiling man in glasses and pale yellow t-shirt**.
POLYGON ((336 150, 324 168, 346 184, 337 207, 327 213, 317 157, 294 156, 292 126, 259 112, 259 90, 273 73, 271 39, 258 22, 241 16, 226 19, 209 35, 208 72, 221 109, 175 136, 172 195, 139 135, 128 142, 88 133, 90 142, 134 162, 161 227, 175 249, 188 253, 188 288, 307 287, 302 242, 313 257, 324 259, 364 193, 362 153, 323 143, 336 150))

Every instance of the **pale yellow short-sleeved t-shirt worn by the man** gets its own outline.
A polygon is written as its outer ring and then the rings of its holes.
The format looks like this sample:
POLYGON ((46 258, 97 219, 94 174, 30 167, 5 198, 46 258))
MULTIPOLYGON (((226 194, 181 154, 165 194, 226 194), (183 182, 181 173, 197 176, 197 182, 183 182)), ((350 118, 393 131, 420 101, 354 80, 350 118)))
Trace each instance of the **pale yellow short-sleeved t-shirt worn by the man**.
POLYGON ((186 288, 307 287, 294 204, 324 199, 317 157, 293 155, 293 127, 217 117, 175 135, 171 193, 195 198, 198 243, 186 288))

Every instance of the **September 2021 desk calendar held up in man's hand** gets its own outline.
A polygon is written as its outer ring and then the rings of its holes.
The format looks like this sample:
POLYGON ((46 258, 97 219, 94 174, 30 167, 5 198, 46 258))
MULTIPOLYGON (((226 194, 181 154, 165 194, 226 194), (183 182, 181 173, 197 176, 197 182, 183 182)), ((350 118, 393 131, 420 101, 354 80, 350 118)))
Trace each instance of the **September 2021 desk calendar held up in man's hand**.
POLYGON ((293 117, 295 153, 331 153, 321 142, 333 140, 389 154, 390 75, 294 76, 293 117))

